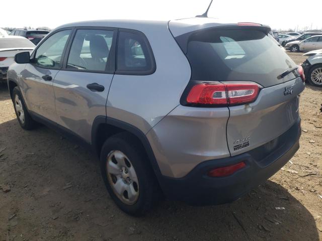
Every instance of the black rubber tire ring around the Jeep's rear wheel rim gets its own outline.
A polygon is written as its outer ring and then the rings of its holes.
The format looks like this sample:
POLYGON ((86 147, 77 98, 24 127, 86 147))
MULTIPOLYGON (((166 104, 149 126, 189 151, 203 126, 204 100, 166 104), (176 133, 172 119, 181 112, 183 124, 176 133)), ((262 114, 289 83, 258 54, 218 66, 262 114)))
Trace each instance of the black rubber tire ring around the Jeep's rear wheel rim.
POLYGON ((143 165, 145 161, 146 160, 144 160, 143 155, 140 155, 140 153, 134 147, 130 146, 126 141, 118 137, 111 137, 104 143, 100 156, 101 173, 110 196, 119 208, 121 208, 126 213, 135 216, 140 216, 145 213, 144 209, 149 208, 148 205, 146 206, 146 204, 149 202, 149 199, 151 198, 149 190, 151 187, 148 185, 150 180, 147 175, 147 172, 150 170, 146 170, 144 168, 143 165), (116 194, 113 191, 113 188, 110 186, 110 183, 108 181, 106 170, 107 156, 111 151, 115 150, 123 152, 128 157, 137 175, 139 185, 139 197, 137 201, 132 205, 123 203, 116 196, 116 194))

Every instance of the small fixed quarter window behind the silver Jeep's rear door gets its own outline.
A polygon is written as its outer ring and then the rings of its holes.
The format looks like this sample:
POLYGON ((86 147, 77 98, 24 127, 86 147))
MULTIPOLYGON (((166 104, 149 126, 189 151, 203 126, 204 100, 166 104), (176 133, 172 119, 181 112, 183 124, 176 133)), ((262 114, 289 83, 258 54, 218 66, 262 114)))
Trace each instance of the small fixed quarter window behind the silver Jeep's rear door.
POLYGON ((136 31, 119 32, 117 74, 151 74, 155 70, 152 50, 145 36, 136 31))

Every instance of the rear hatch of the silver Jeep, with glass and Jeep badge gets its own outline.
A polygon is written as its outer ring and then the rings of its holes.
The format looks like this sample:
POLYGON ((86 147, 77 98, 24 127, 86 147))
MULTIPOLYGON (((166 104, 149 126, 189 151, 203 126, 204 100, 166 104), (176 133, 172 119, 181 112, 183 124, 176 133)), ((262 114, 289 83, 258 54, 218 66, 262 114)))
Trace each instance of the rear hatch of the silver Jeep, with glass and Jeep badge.
MULTIPOLYGON (((274 140, 299 121, 298 95, 304 83, 296 64, 268 37, 269 31, 265 26, 219 26, 176 37, 192 69, 183 98, 200 82, 259 86, 251 103, 232 105, 227 101, 226 134, 231 156, 274 140), (289 69, 293 71, 282 77, 289 69)), ((223 97, 228 95, 226 89, 223 97)))

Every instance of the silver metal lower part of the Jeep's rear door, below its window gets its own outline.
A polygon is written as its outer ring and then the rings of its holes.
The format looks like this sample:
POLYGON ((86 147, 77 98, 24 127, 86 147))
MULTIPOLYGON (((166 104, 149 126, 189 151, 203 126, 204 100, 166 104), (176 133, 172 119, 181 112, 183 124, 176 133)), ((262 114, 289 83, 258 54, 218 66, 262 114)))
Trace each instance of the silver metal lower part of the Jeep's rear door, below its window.
POLYGON ((58 125, 91 143, 92 126, 96 116, 106 115, 106 99, 113 74, 61 70, 54 79, 55 105, 58 125), (105 87, 91 91, 90 83, 105 87))

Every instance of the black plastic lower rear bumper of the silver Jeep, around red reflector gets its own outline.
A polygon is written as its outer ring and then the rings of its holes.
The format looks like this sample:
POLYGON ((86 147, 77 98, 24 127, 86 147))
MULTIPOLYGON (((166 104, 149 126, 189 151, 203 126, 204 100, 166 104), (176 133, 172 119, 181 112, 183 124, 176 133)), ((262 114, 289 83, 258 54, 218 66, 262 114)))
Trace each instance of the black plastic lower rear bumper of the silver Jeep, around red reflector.
POLYGON ((275 140, 234 157, 200 163, 183 178, 163 177, 162 189, 174 200, 191 205, 215 205, 234 201, 265 182, 299 149, 300 118, 275 140), (209 170, 244 161, 246 167, 228 177, 208 177, 209 170))

